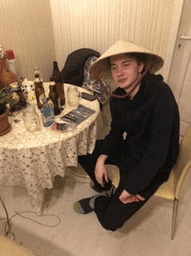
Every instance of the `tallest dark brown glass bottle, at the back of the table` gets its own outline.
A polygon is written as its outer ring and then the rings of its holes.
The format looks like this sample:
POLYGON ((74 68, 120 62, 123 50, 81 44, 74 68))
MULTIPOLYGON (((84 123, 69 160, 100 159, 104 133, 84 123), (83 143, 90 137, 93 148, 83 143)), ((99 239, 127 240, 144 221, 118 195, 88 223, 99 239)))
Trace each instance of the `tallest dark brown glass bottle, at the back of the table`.
POLYGON ((65 94, 64 94, 64 89, 63 89, 63 77, 61 75, 61 72, 58 69, 56 61, 53 62, 52 77, 55 80, 56 90, 60 96, 60 104, 63 105, 63 104, 65 104, 65 94))

